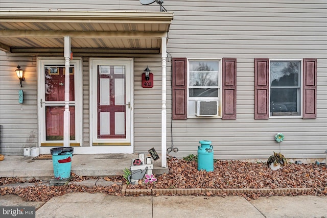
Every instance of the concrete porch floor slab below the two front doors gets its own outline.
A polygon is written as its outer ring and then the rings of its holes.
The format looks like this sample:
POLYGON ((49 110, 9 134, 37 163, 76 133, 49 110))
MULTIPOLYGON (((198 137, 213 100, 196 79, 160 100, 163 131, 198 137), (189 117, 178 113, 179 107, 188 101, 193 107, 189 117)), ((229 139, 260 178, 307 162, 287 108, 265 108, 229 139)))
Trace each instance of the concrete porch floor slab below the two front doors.
MULTIPOLYGON (((53 177, 51 159, 34 159, 18 155, 5 155, 0 161, 0 177, 42 178, 53 177)), ((119 176, 131 166, 137 154, 74 154, 71 172, 78 176, 119 176)), ((153 161, 153 160, 152 160, 153 161)), ((153 174, 168 173, 161 167, 161 159, 153 161, 153 174)))

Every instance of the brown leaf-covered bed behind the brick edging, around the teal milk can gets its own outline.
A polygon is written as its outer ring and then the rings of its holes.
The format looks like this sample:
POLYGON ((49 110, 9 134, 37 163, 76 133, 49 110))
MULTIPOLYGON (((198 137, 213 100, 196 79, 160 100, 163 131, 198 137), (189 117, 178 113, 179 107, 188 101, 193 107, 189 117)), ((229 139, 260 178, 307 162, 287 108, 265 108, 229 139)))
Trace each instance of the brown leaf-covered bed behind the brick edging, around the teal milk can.
MULTIPOLYGON (((198 171, 197 162, 169 158, 169 174, 158 175, 158 181, 152 184, 128 185, 127 189, 153 188, 216 188, 216 189, 276 189, 276 188, 312 188, 306 193, 289 192, 278 195, 327 195, 327 168, 325 164, 293 164, 272 171, 266 163, 217 160, 214 171, 198 171)), ((213 195, 211 192, 204 195, 213 195)), ((259 196, 273 196, 276 193, 228 193, 241 195, 248 200, 259 196)), ((216 194, 215 194, 216 195, 216 194)), ((220 193, 219 195, 226 195, 220 193)))

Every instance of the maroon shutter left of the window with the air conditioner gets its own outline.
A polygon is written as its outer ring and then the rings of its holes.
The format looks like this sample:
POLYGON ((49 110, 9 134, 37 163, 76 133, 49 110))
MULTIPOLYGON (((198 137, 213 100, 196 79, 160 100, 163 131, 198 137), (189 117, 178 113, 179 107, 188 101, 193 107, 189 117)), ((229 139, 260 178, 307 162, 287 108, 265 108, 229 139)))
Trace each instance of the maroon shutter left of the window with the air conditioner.
POLYGON ((187 119, 186 58, 173 58, 173 119, 187 119))

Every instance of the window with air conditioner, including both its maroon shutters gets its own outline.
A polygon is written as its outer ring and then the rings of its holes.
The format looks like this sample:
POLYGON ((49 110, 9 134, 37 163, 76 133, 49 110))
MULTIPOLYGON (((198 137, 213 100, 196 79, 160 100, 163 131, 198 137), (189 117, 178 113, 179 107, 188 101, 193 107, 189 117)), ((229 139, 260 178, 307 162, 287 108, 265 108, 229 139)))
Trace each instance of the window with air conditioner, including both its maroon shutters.
POLYGON ((172 61, 173 119, 236 119, 236 58, 172 61))

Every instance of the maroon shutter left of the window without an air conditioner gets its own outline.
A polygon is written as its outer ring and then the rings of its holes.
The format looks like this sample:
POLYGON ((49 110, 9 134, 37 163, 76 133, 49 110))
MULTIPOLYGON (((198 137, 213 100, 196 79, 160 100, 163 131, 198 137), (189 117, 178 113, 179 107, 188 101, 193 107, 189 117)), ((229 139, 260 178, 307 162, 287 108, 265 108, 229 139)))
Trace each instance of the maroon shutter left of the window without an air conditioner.
POLYGON ((254 119, 269 118, 269 59, 254 59, 254 119))

